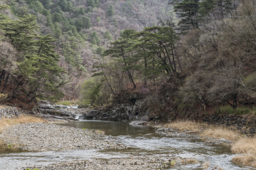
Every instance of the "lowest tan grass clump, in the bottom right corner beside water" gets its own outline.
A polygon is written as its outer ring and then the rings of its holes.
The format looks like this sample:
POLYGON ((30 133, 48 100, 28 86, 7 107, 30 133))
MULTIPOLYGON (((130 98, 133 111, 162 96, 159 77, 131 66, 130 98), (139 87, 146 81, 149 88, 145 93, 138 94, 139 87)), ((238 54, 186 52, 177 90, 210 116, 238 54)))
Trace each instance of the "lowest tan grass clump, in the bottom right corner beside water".
POLYGON ((237 155, 232 159, 234 163, 241 163, 246 166, 253 166, 256 167, 256 155, 249 153, 245 155, 237 155))

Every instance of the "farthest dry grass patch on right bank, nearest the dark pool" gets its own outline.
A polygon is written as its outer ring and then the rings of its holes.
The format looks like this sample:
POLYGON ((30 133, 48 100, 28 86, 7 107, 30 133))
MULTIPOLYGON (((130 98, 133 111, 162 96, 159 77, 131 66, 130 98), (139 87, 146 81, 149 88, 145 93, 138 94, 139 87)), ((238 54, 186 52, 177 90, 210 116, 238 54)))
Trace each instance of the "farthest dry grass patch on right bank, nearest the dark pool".
POLYGON ((202 123, 195 123, 189 120, 181 120, 174 123, 168 123, 165 125, 166 128, 178 128, 179 131, 200 131, 201 128, 206 127, 202 123))

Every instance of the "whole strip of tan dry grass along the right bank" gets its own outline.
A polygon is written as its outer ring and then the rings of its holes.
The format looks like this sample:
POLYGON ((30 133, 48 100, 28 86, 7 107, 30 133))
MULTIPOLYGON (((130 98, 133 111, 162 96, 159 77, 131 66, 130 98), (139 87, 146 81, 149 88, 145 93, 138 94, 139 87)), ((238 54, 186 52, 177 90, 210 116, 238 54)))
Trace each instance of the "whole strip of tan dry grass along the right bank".
MULTIPOLYGON (((231 150, 235 153, 242 153, 243 155, 238 155, 233 158, 233 162, 241 163, 245 166, 256 167, 256 137, 248 138, 245 136, 240 136, 238 131, 234 131, 227 128, 212 127, 205 124, 195 123, 189 120, 178 121, 175 123, 169 123, 165 125, 165 128, 177 128, 179 131, 197 131, 203 128, 203 132, 200 132, 200 136, 208 136, 216 139, 228 139, 233 140, 231 144, 231 150)), ((235 129, 235 128, 233 128, 235 129)), ((193 161, 191 161, 192 163, 193 161)), ((203 169, 208 169, 208 162, 203 163, 203 169)), ((222 169, 219 167, 219 169, 222 169)))

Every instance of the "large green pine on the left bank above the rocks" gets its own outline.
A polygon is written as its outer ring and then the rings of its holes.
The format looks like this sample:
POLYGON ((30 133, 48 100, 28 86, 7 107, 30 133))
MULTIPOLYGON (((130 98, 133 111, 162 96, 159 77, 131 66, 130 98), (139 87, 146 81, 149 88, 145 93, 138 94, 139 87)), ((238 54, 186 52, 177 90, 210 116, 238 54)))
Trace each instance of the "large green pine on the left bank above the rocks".
POLYGON ((4 36, 18 52, 18 70, 12 76, 12 97, 23 92, 31 101, 37 96, 60 98, 63 93, 58 88, 64 84, 60 75, 64 70, 58 66, 59 55, 53 50, 55 40, 50 35, 36 34, 39 28, 36 20, 32 15, 20 20, 0 20, 4 36))

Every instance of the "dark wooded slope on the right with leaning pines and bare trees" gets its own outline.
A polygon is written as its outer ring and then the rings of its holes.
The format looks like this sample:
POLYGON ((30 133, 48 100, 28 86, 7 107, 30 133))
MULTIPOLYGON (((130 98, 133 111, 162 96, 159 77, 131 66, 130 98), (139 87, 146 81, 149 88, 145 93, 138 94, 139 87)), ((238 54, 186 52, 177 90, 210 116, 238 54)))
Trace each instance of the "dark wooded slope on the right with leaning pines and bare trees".
POLYGON ((253 109, 256 90, 255 2, 172 4, 178 25, 167 20, 143 31, 126 29, 111 43, 103 55, 113 60, 99 62, 95 78, 85 82, 85 101, 120 102, 121 95, 137 93, 150 112, 169 117, 250 112, 246 107, 253 109))

